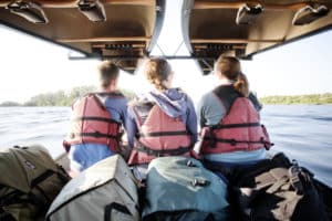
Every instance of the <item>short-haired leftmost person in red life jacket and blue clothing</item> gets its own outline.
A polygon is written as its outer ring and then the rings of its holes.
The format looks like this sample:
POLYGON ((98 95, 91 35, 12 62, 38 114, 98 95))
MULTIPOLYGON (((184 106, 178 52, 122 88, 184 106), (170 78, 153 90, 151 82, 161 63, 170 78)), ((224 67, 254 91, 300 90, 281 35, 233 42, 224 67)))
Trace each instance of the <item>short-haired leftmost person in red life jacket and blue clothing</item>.
POLYGON ((98 66, 100 92, 72 106, 71 131, 64 140, 71 172, 75 175, 118 151, 127 99, 117 91, 120 70, 110 61, 98 66))

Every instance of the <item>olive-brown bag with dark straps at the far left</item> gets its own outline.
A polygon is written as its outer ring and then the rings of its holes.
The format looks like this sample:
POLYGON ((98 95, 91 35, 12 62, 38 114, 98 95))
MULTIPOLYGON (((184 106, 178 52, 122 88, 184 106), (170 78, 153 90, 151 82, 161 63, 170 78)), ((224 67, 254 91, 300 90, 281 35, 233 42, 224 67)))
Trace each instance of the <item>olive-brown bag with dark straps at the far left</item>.
POLYGON ((43 220, 70 180, 48 150, 39 145, 0 149, 0 220, 43 220))

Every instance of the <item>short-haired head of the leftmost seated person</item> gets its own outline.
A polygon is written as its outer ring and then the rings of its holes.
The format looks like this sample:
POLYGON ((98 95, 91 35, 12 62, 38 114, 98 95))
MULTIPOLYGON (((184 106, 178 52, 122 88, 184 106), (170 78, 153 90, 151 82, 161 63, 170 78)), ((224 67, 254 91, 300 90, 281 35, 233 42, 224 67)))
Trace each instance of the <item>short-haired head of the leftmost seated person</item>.
POLYGON ((100 85, 103 88, 110 86, 112 80, 116 80, 118 77, 120 70, 113 64, 111 61, 104 61, 98 65, 98 77, 100 85))

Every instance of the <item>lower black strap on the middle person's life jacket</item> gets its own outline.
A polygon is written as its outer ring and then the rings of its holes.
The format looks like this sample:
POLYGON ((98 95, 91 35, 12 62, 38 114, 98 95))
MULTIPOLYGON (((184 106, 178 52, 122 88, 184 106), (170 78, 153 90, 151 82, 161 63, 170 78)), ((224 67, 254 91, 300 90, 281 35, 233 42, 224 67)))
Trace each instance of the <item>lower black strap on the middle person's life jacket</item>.
POLYGON ((155 156, 155 157, 163 157, 163 156, 176 156, 176 155, 184 155, 186 152, 189 152, 193 149, 193 146, 188 147, 178 147, 176 149, 152 149, 149 147, 146 147, 142 144, 139 144, 137 147, 135 147, 135 150, 145 152, 149 156, 155 156))

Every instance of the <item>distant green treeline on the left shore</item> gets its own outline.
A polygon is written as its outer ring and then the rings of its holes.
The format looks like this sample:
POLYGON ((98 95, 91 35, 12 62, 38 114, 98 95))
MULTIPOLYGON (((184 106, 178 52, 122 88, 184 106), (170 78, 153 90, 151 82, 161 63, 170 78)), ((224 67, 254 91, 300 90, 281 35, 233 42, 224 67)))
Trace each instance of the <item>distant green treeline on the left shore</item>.
MULTIPOLYGON (((95 92, 95 86, 80 86, 74 87, 69 93, 59 91, 54 93, 44 93, 31 97, 24 104, 17 102, 3 102, 0 106, 71 106, 73 102, 87 93, 95 92)), ((128 99, 134 98, 136 95, 127 90, 120 90, 128 99)))

